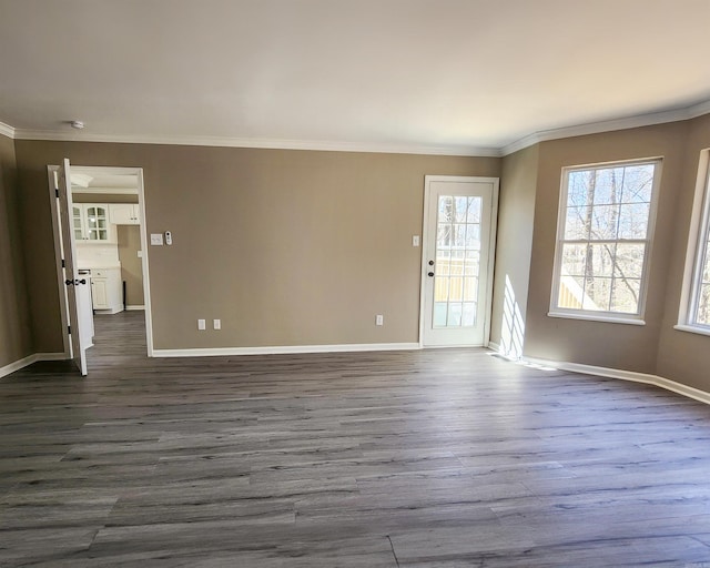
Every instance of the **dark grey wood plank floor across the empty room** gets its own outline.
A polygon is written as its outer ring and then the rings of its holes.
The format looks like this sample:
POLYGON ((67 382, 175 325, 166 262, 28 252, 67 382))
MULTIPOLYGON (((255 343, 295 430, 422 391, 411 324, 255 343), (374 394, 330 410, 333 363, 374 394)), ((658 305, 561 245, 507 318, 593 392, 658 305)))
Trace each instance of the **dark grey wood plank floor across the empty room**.
POLYGON ((0 382, 0 566, 710 567, 710 409, 481 349, 0 382))

